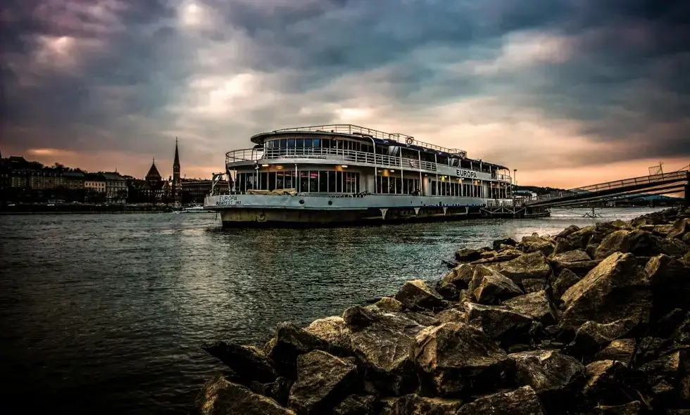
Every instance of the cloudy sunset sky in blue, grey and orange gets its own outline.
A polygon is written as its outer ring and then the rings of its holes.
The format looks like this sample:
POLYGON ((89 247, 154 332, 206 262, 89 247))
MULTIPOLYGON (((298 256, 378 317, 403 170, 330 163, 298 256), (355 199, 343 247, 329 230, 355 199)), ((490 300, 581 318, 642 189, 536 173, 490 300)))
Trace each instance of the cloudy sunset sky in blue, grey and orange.
POLYGON ((223 170, 257 132, 343 123, 463 148, 520 184, 690 163, 690 3, 5 0, 3 156, 223 170))

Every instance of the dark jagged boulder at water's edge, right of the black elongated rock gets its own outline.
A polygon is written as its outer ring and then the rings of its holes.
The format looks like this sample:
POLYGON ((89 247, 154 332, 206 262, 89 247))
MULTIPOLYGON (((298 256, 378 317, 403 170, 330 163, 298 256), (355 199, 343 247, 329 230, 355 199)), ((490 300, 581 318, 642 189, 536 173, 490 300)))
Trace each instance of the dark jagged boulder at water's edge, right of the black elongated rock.
POLYGON ((327 350, 328 343, 294 324, 280 323, 268 345, 268 357, 282 376, 294 380, 297 357, 313 350, 327 350))

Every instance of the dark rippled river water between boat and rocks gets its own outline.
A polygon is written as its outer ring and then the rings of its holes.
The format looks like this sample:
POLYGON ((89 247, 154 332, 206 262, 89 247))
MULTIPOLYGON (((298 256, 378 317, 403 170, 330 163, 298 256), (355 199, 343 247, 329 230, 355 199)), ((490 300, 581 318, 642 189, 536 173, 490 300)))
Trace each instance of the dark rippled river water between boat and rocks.
POLYGON ((307 324, 407 279, 437 279, 458 248, 594 223, 583 213, 234 231, 213 214, 0 217, 0 357, 15 397, 4 403, 183 414, 221 369, 201 343, 263 344, 280 321, 307 324))

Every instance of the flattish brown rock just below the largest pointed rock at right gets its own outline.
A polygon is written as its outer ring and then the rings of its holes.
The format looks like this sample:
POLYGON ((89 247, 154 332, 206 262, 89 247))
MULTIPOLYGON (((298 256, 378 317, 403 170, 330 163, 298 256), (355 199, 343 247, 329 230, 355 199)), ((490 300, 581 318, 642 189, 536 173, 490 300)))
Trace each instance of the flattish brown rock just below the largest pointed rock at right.
POLYGON ((572 355, 594 355, 608 343, 629 336, 638 324, 637 319, 620 319, 607 324, 587 321, 577 328, 567 351, 572 355))

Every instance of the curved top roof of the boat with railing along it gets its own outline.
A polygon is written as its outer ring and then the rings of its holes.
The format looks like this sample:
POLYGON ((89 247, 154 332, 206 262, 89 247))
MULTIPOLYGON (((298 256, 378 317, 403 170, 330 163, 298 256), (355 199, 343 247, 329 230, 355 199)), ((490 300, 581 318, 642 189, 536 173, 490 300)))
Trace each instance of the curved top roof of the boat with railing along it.
POLYGON ((313 125, 310 127, 275 129, 272 132, 263 132, 251 136, 251 142, 263 145, 264 141, 272 136, 295 132, 299 132, 301 134, 329 134, 334 136, 346 136, 348 138, 359 138, 367 141, 372 140, 374 143, 384 144, 386 146, 398 146, 401 148, 409 148, 410 150, 421 151, 423 153, 482 162, 483 164, 496 167, 498 170, 508 170, 508 167, 502 165, 485 162, 484 160, 468 158, 467 152, 458 148, 436 146, 435 144, 415 140, 413 136, 408 136, 406 134, 387 133, 378 131, 376 129, 351 124, 313 125))

